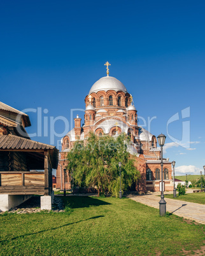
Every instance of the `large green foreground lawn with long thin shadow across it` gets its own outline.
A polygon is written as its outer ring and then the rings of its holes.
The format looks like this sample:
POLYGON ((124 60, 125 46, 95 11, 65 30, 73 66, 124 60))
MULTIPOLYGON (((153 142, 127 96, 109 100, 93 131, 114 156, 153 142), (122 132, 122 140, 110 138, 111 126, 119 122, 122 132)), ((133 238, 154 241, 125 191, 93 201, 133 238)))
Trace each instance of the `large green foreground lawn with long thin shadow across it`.
POLYGON ((0 215, 0 255, 184 255, 205 225, 131 199, 66 197, 65 213, 0 215))

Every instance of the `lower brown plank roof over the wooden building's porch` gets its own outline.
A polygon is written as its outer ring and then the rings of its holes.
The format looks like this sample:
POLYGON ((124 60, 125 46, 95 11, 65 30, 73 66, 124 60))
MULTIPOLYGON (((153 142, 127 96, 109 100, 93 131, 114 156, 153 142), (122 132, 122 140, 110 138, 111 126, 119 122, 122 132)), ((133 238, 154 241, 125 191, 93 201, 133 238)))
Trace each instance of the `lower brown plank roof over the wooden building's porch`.
POLYGON ((0 135, 0 152, 1 151, 17 151, 17 152, 44 152, 48 150, 53 169, 57 169, 59 160, 59 150, 55 146, 51 146, 31 139, 22 138, 12 134, 0 135))

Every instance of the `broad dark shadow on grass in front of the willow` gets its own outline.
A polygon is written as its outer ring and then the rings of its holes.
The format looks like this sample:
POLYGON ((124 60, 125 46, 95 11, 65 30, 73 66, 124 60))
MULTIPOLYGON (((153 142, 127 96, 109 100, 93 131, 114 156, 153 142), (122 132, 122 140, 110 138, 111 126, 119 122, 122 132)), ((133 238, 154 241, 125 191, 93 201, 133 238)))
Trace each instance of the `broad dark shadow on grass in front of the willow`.
POLYGON ((64 205, 69 205, 70 208, 85 208, 90 206, 108 205, 110 203, 104 202, 88 196, 69 196, 63 197, 64 205))

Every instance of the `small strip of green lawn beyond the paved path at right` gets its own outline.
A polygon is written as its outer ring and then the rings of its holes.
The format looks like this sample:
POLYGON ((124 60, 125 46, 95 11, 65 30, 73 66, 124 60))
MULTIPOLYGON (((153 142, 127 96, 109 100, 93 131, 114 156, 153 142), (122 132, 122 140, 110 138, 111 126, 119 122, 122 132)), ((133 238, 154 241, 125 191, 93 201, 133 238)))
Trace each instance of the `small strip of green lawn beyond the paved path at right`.
POLYGON ((176 199, 176 200, 183 200, 191 203, 198 203, 198 204, 205 204, 205 194, 204 192, 201 193, 191 193, 191 194, 185 194, 184 196, 177 196, 173 197, 173 194, 165 195, 164 197, 176 199))

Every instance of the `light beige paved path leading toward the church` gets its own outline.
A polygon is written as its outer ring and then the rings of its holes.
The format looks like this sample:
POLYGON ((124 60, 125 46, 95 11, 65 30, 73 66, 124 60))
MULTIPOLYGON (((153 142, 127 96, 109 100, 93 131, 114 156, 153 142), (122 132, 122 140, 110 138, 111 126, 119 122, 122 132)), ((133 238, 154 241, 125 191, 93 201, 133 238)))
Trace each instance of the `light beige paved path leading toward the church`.
MULTIPOLYGON (((146 204, 148 206, 159 209, 160 197, 156 196, 156 194, 145 196, 132 196, 129 198, 141 204, 146 204)), ((190 203, 186 201, 174 200, 169 198, 164 199, 167 202, 166 210, 169 211, 169 213, 173 213, 180 217, 188 218, 189 220, 195 220, 195 222, 205 224, 204 204, 190 203)))

